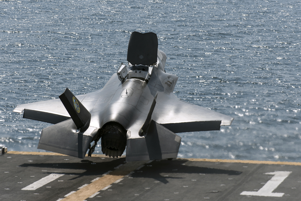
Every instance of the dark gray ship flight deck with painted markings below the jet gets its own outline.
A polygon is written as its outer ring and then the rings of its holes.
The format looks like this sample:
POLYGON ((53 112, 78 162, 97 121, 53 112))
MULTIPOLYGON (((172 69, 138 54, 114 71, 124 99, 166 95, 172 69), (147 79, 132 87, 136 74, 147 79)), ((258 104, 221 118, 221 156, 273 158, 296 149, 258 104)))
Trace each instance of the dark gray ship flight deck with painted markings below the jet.
POLYGON ((0 200, 300 200, 301 163, 0 156, 0 200), (268 164, 270 163, 270 164, 268 164), (267 174, 268 173, 268 174, 267 174))

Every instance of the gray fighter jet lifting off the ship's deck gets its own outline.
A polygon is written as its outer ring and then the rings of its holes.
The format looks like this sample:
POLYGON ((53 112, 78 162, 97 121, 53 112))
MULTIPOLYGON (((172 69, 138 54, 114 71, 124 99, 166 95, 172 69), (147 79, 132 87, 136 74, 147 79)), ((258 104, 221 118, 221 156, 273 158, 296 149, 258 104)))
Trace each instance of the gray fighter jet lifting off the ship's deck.
POLYGON ((175 133, 231 125, 232 117, 174 95, 178 77, 165 72, 155 33, 133 32, 127 61, 101 90, 75 96, 66 88, 60 99, 17 106, 23 118, 54 124, 42 130, 38 149, 84 158, 101 140, 110 157, 126 149, 126 161, 172 159, 181 144, 175 133))

